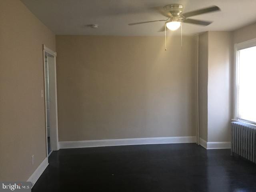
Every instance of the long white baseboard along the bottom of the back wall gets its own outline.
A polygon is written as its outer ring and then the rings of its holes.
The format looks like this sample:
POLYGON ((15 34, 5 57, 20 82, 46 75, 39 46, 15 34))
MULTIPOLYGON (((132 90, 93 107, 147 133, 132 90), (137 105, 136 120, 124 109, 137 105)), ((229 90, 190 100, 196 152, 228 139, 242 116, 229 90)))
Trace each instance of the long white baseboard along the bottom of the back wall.
POLYGON ((102 146, 122 145, 145 145, 145 144, 172 144, 172 143, 195 143, 196 136, 185 137, 153 137, 153 138, 131 138, 131 139, 108 139, 108 140, 86 140, 86 141, 60 141, 60 148, 86 148, 102 146))

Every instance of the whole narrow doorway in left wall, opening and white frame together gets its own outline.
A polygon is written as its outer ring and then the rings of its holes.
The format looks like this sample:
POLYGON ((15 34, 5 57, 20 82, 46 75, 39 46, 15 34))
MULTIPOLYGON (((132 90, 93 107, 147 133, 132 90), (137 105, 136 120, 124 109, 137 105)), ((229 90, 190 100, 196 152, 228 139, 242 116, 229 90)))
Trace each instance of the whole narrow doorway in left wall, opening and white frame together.
POLYGON ((56 52, 45 45, 44 52, 44 98, 46 116, 46 153, 59 150, 58 144, 58 112, 56 86, 56 52))

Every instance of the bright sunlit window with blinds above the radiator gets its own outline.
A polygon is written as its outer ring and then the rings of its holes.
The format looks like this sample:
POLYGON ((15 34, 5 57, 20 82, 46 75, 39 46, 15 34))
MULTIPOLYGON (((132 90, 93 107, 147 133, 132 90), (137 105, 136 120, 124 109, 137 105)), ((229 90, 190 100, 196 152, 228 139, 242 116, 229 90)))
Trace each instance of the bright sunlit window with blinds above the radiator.
POLYGON ((256 122, 256 40, 235 45, 235 118, 256 122))

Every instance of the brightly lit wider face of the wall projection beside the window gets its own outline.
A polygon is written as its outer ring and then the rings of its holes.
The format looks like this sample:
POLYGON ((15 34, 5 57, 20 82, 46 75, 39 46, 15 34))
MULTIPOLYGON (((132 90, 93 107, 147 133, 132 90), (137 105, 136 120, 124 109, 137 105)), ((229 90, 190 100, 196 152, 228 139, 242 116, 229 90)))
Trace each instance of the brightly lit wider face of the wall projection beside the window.
POLYGON ((230 141, 232 33, 208 32, 208 142, 230 141))

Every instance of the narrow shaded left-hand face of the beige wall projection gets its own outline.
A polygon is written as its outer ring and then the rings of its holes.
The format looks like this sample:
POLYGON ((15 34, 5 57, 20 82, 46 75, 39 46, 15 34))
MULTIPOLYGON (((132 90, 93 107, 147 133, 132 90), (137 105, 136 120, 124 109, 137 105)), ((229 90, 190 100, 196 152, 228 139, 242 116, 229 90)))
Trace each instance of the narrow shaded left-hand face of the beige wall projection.
POLYGON ((199 134, 207 141, 208 32, 200 34, 198 44, 199 134))

